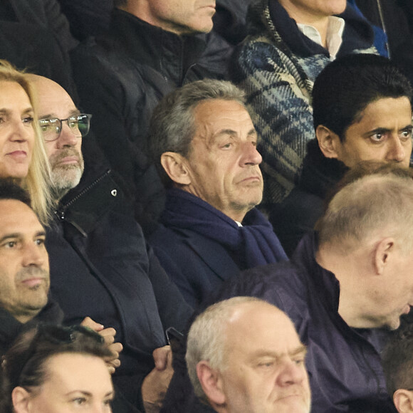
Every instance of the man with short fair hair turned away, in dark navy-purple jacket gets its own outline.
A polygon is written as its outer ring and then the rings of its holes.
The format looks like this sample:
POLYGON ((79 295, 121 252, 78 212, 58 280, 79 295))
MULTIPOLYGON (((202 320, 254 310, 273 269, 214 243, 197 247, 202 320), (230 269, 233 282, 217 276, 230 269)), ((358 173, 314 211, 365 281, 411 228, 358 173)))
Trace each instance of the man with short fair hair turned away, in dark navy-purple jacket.
POLYGON ((291 317, 308 346, 314 412, 394 411, 378 329, 398 328, 413 305, 413 184, 404 170, 345 186, 291 261, 244 271, 219 297, 256 296, 291 317))

